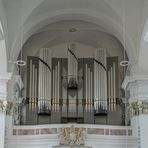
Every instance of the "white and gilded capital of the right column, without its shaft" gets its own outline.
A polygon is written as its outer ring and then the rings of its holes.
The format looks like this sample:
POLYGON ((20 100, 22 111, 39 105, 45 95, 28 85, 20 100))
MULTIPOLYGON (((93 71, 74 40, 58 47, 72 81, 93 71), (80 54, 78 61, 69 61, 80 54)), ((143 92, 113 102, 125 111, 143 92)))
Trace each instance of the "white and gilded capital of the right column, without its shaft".
POLYGON ((148 76, 127 76, 122 86, 130 94, 128 109, 131 115, 148 114, 148 76))

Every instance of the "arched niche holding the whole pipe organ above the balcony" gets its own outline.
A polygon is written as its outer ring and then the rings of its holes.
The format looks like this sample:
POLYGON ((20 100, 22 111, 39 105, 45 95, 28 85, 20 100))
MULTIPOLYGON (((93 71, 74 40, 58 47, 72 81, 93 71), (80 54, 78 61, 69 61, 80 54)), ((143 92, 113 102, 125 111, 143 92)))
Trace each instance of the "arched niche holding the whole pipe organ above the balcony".
POLYGON ((17 65, 25 86, 17 124, 124 124, 124 48, 115 36, 87 21, 59 21, 32 35, 21 52, 27 66, 17 65))

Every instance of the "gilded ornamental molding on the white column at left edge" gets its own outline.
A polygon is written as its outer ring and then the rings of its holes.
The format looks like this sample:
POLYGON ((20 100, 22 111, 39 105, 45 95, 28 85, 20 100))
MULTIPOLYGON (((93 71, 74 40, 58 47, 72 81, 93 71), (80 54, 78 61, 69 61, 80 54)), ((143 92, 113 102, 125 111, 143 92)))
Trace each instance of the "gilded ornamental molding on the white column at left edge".
POLYGON ((13 102, 0 100, 0 113, 13 115, 16 112, 16 105, 13 102))

